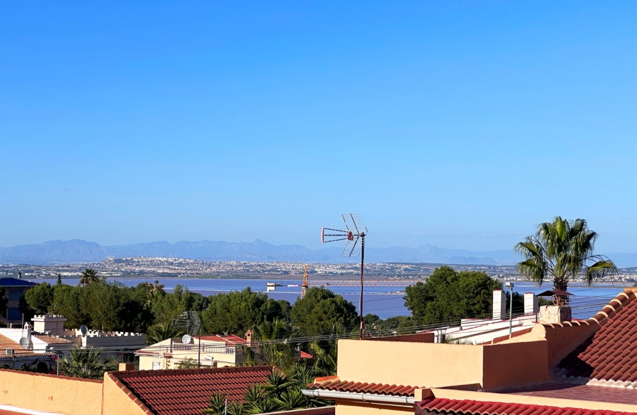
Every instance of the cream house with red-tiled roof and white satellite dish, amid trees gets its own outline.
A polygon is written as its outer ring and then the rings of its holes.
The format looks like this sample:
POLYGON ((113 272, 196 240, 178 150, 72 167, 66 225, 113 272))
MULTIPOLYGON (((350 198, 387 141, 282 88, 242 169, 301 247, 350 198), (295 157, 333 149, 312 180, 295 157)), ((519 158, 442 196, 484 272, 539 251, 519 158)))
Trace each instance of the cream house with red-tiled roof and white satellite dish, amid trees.
MULTIPOLYGON (((247 360, 246 347, 259 351, 258 344, 252 342, 252 332, 246 333, 246 338, 236 335, 202 335, 185 336, 176 339, 166 339, 136 351, 140 358, 140 370, 158 370, 179 368, 184 361, 195 361, 203 367, 226 367, 245 363, 247 360), (183 340, 187 343, 183 343, 183 340)), ((300 350, 296 360, 311 358, 300 350)), ((258 356, 255 356, 259 360, 258 356)), ((261 361, 266 364, 267 362, 261 361)))

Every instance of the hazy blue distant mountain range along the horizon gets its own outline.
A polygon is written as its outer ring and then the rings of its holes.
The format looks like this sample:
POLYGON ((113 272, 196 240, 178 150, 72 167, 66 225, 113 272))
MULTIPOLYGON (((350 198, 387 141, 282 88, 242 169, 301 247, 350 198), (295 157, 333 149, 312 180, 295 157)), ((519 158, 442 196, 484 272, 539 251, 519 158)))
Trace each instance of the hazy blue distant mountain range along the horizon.
MULTIPOLYGON (((85 240, 52 240, 41 244, 0 247, 0 263, 54 265, 62 263, 101 262, 106 258, 163 257, 201 259, 203 261, 250 262, 314 262, 343 263, 357 261, 341 257, 341 248, 309 249, 303 245, 272 245, 262 240, 254 242, 220 242, 202 240, 149 242, 147 244, 102 246, 85 240)), ((637 254, 608 254, 622 268, 637 265, 637 254)), ((368 247, 366 261, 411 262, 438 264, 511 265, 516 258, 511 250, 467 251, 445 249, 434 245, 419 247, 368 247)))

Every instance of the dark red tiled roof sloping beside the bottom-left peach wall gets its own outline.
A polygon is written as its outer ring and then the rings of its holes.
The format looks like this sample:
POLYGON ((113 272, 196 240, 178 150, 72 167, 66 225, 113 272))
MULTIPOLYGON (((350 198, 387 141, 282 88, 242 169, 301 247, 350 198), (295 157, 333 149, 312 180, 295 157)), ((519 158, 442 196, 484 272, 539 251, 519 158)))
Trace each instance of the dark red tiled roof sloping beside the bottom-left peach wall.
POLYGON ((208 398, 217 392, 228 400, 245 402, 243 394, 248 386, 264 382, 271 370, 271 366, 250 366, 131 370, 108 375, 155 415, 201 415, 208 407, 208 398))

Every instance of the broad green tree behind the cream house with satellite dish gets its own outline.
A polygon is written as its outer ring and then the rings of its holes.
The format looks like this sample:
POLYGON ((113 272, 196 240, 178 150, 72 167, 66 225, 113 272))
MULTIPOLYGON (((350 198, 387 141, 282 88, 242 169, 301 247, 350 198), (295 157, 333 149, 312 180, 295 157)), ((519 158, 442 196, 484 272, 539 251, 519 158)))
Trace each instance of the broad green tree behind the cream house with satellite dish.
POLYGON ((208 300, 201 316, 204 333, 243 335, 249 328, 284 317, 280 303, 250 287, 211 295, 208 300))

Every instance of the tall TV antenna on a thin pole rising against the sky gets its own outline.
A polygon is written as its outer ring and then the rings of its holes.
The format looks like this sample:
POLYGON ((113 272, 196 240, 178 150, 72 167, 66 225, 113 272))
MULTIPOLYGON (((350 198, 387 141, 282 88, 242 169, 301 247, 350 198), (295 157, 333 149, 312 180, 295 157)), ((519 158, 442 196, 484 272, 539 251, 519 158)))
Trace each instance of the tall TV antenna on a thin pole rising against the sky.
POLYGON ((365 237, 367 236, 367 228, 362 222, 359 214, 341 215, 345 222, 345 231, 340 229, 322 228, 320 231, 320 242, 336 242, 339 240, 347 240, 341 256, 361 256, 361 298, 359 300, 359 339, 362 340, 362 333, 365 330, 365 323, 362 320, 362 275, 365 265, 365 237), (329 231, 331 233, 326 233, 329 231))

